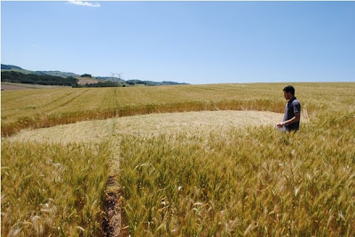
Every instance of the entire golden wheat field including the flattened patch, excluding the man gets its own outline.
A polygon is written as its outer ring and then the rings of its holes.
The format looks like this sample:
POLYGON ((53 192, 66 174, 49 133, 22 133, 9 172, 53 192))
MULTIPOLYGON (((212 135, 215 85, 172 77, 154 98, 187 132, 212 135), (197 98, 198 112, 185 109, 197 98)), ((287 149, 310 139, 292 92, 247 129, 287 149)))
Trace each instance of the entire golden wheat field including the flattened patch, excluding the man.
POLYGON ((296 134, 285 85, 3 91, 2 233, 101 236, 114 177, 125 236, 353 236, 355 83, 293 83, 296 134))

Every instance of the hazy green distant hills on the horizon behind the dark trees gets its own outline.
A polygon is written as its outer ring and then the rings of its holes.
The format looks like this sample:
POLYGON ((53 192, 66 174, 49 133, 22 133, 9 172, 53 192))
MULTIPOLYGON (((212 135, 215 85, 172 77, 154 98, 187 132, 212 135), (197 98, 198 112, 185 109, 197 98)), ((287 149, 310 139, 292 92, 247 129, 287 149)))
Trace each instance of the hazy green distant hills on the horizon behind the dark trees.
POLYGON ((96 76, 96 77, 91 77, 85 78, 87 80, 83 80, 83 78, 80 78, 81 75, 75 74, 75 73, 67 73, 67 72, 61 72, 61 71, 30 71, 23 69, 22 67, 18 66, 13 66, 13 65, 1 65, 1 71, 6 72, 6 71, 14 71, 14 72, 19 72, 22 74, 30 75, 51 75, 51 76, 60 76, 60 77, 75 77, 76 79, 79 80, 79 84, 87 84, 87 83, 99 83, 99 81, 109 81, 109 82, 114 82, 117 83, 118 86, 157 86, 157 85, 177 85, 177 84, 187 84, 187 83, 175 83, 175 82, 167 82, 167 81, 162 81, 162 82, 153 82, 153 81, 144 81, 144 80, 138 80, 138 79, 132 79, 132 80, 123 80, 117 77, 112 77, 112 76, 96 76))

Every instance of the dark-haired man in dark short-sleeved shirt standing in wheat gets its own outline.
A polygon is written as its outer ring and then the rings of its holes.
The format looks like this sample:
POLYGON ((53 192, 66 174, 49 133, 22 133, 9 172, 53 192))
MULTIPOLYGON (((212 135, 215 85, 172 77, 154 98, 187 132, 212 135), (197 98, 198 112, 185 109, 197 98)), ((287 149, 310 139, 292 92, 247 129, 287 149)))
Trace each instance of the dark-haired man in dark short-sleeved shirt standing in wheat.
POLYGON ((301 104, 295 97, 295 88, 288 85, 283 89, 283 96, 288 99, 288 104, 286 105, 283 122, 279 122, 277 126, 279 128, 285 127, 288 131, 296 131, 299 129, 301 104))

